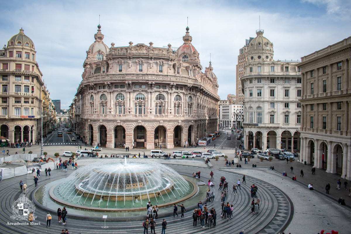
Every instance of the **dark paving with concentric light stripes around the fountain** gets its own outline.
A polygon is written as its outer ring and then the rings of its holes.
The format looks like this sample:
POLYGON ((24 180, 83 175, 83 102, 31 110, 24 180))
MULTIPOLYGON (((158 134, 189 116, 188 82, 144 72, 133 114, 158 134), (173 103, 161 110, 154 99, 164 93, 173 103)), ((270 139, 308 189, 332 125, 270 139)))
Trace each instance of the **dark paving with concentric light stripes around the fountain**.
MULTIPOLYGON (((177 172, 185 175, 191 175, 193 172, 201 171, 201 180, 207 182, 209 179, 209 174, 211 172, 210 168, 198 168, 191 166, 181 166, 181 165, 167 165, 175 169, 177 172)), ((193 227, 192 223, 192 211, 193 209, 187 209, 185 217, 173 218, 172 214, 160 214, 159 219, 157 219, 156 233, 161 232, 161 222, 165 218, 167 221, 167 234, 195 234, 195 233, 239 233, 240 230, 245 229, 245 234, 247 233, 279 233, 289 224, 293 214, 293 207, 289 198, 282 193, 278 188, 266 183, 264 181, 258 180, 256 178, 251 178, 246 175, 246 184, 241 185, 241 190, 238 190, 238 195, 234 196, 231 193, 231 187, 237 183, 238 179, 242 180, 241 174, 235 172, 235 168, 225 169, 225 170, 215 170, 212 169, 214 173, 214 183, 213 191, 215 192, 216 198, 214 202, 208 203, 208 208, 212 207, 217 211, 217 226, 216 227, 205 227, 201 228, 199 225, 193 227), (218 181, 220 176, 224 175, 226 180, 229 181, 229 192, 226 197, 226 202, 233 204, 233 219, 221 219, 220 212, 220 191, 218 191, 218 181), (252 215, 250 204, 250 185, 254 183, 258 185, 257 196, 260 199, 260 213, 259 215, 252 215)), ((57 180, 62 177, 66 177, 72 173, 68 171, 67 173, 61 170, 52 171, 52 176, 41 176, 39 178, 39 186, 47 182, 57 180)), ((40 226, 9 226, 7 222, 15 222, 10 216, 12 215, 11 205, 14 200, 22 196, 22 192, 19 189, 19 181, 25 181, 28 189, 26 196, 28 198, 32 197, 34 187, 34 181, 31 175, 18 176, 16 178, 4 180, 0 182, 0 197, 2 212, 0 212, 0 233, 23 233, 23 234, 37 234, 37 233, 60 233, 62 229, 68 229, 71 234, 79 233, 140 233, 143 232, 142 223, 145 217, 133 217, 132 219, 114 220, 106 222, 106 226, 109 228, 102 229, 104 223, 101 221, 95 221, 94 218, 83 218, 83 217, 72 217, 68 215, 68 222, 66 225, 58 223, 57 215, 51 213, 53 216, 51 227, 46 228, 45 216, 46 210, 40 209, 38 206, 35 210, 35 215, 38 218, 35 220, 40 221, 40 226)), ((256 200, 256 199, 255 199, 256 200)), ((49 207, 49 209, 56 210, 58 207, 49 207)), ((180 213, 180 212, 178 212, 180 213)), ((91 214, 93 215, 93 214, 91 214)), ((180 216, 180 215, 179 215, 180 216)), ((149 229, 150 232, 150 229, 149 229)))

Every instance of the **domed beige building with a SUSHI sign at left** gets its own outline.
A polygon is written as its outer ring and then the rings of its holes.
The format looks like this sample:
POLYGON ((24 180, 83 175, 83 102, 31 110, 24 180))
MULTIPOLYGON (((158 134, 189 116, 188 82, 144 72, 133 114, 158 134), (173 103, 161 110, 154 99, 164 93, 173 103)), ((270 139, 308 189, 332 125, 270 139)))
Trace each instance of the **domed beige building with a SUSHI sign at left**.
POLYGON ((33 41, 20 32, 0 50, 1 136, 10 142, 39 139, 44 85, 33 41))

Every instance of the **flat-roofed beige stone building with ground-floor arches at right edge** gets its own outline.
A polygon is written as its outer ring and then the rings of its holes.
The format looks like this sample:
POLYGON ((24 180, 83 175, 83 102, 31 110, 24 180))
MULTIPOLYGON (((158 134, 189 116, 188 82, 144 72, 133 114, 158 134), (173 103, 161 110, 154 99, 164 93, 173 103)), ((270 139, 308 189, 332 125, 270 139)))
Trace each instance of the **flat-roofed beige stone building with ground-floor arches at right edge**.
POLYGON ((302 57, 301 162, 351 179, 351 37, 302 57), (324 162, 324 163, 323 163, 324 162))

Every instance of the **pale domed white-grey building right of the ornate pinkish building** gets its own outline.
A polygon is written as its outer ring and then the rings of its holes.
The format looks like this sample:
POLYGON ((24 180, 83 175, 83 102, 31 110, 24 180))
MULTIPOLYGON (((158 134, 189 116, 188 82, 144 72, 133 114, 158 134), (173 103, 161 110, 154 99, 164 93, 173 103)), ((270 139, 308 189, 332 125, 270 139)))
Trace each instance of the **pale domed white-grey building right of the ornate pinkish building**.
POLYGON ((247 45, 244 76, 244 145, 300 150, 301 74, 298 61, 274 61, 273 43, 256 31, 247 45))

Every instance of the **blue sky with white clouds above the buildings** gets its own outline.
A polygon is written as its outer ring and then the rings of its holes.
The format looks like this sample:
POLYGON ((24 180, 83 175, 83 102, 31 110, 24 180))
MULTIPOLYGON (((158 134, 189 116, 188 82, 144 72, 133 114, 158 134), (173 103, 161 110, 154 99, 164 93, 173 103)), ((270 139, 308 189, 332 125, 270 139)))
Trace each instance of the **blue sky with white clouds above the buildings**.
POLYGON ((1 1, 0 45, 22 27, 52 99, 67 109, 77 91, 86 51, 99 24, 109 47, 152 41, 155 47, 183 44, 187 17, 192 44, 203 67, 211 61, 218 94, 235 93, 236 64, 245 39, 256 36, 259 16, 274 59, 300 59, 351 36, 349 0, 277 1, 1 1))

